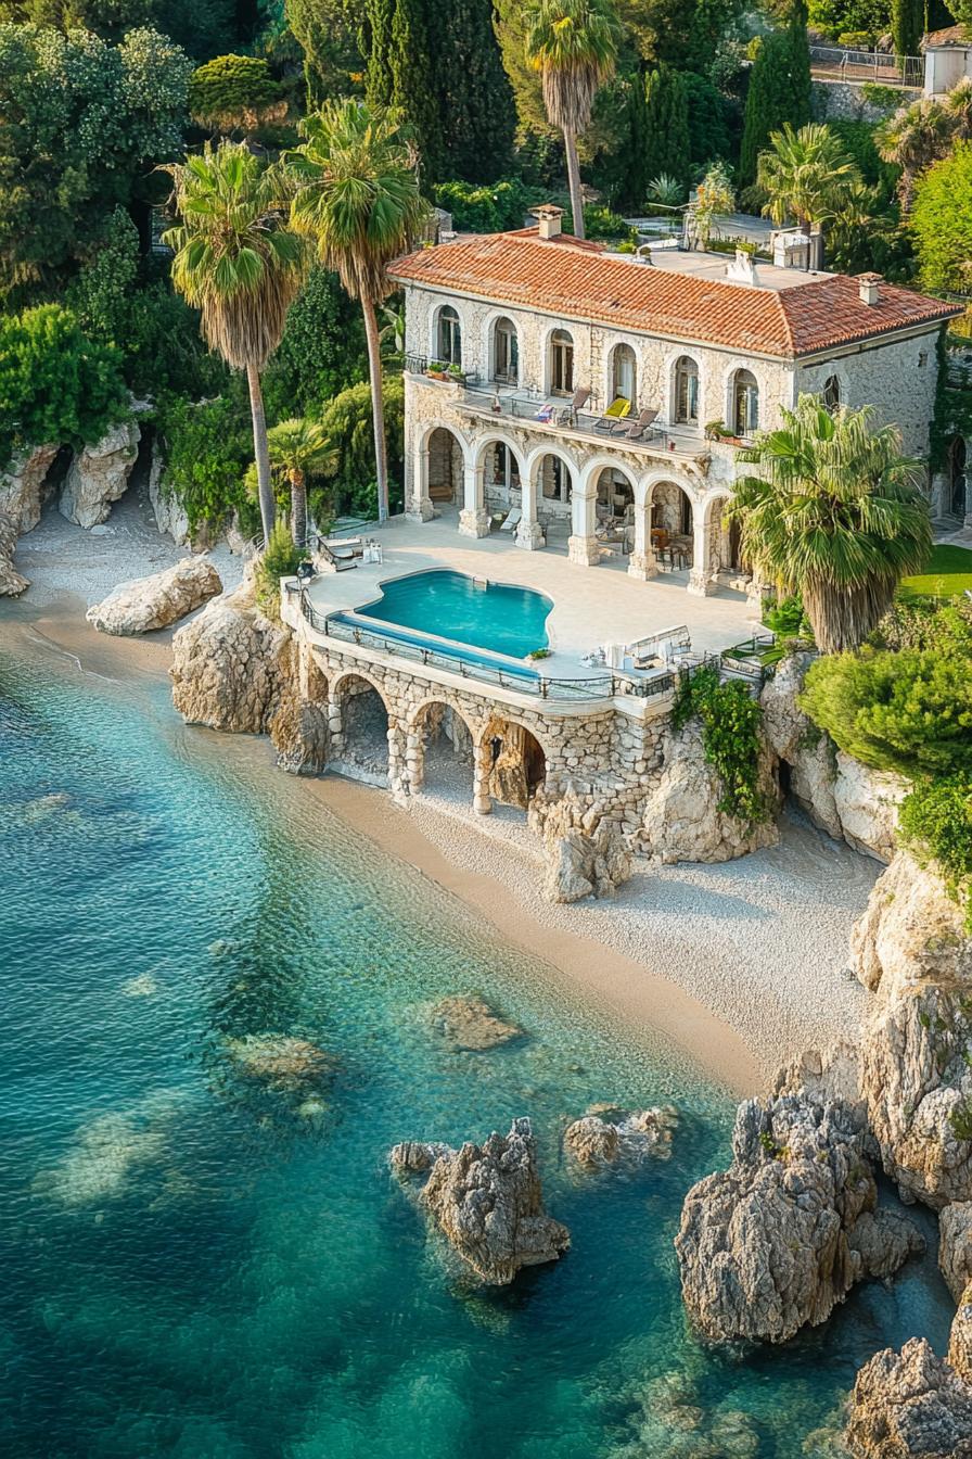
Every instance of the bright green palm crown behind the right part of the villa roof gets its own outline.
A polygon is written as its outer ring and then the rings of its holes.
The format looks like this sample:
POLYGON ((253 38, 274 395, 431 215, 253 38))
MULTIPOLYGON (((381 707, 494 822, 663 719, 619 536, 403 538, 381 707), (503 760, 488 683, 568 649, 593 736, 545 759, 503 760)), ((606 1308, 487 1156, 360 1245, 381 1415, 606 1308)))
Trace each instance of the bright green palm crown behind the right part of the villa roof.
POLYGON ((799 131, 784 123, 783 131, 769 133, 756 163, 756 185, 768 194, 762 212, 777 228, 794 217, 807 238, 810 225, 829 219, 860 182, 857 163, 820 123, 799 131))

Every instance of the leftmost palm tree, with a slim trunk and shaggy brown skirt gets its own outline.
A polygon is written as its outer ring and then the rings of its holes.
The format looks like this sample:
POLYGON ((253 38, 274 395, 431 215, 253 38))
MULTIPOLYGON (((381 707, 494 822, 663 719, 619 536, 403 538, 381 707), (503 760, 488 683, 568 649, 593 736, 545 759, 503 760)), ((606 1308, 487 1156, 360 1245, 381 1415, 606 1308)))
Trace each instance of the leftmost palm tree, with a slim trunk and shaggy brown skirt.
POLYGON ((201 330, 230 369, 246 371, 264 541, 274 525, 267 417, 259 374, 280 344, 305 277, 306 247, 286 226, 280 178, 242 142, 210 143, 166 168, 182 222, 162 241, 172 283, 203 314, 201 330))

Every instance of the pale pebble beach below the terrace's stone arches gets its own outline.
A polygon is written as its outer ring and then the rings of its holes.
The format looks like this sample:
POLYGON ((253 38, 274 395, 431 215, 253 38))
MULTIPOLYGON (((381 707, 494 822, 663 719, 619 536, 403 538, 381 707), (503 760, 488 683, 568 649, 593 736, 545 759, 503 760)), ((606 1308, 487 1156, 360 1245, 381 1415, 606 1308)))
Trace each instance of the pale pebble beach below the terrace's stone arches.
POLYGON ((876 861, 787 813, 778 846, 721 865, 641 859, 612 902, 551 906, 526 817, 510 808, 475 816, 469 797, 469 767, 436 756, 409 814, 449 861, 500 878, 538 924, 605 943, 678 982, 740 1033, 767 1074, 857 1030, 867 995, 847 972, 847 943, 880 874, 876 861))

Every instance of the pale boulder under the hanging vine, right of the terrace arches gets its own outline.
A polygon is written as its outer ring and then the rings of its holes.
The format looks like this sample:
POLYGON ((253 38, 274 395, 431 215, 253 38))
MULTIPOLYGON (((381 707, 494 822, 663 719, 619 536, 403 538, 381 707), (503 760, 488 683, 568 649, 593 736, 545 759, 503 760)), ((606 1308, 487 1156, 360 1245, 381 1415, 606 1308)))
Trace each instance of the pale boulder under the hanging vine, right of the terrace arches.
MULTIPOLYGON (((678 734, 669 731, 662 753, 662 769, 644 804, 641 849, 675 862, 733 861, 761 846, 775 846, 780 832, 771 817, 748 826, 720 811, 721 782, 705 759, 697 724, 689 722, 678 734)), ((759 786, 769 804, 778 798, 774 765, 767 748, 759 757, 759 786)))

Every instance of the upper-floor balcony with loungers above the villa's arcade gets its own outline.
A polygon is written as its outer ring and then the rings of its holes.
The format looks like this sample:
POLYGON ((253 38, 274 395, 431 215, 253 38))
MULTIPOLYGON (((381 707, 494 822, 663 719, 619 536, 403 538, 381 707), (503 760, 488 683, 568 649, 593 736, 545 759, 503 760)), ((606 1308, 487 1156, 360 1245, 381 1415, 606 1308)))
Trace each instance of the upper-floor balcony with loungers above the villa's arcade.
POLYGON ((493 423, 516 422, 538 435, 632 451, 646 458, 678 461, 701 471, 705 471, 713 454, 713 444, 705 441, 698 427, 648 420, 651 413, 647 410, 641 414, 634 410, 628 417, 611 419, 602 411, 592 410, 590 401, 581 409, 574 409, 565 395, 544 395, 526 385, 479 381, 469 374, 439 379, 428 375, 428 360, 421 355, 407 355, 405 371, 439 388, 449 388, 450 406, 463 416, 493 423))

